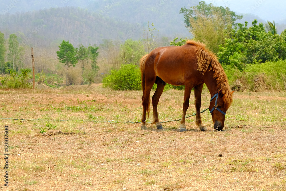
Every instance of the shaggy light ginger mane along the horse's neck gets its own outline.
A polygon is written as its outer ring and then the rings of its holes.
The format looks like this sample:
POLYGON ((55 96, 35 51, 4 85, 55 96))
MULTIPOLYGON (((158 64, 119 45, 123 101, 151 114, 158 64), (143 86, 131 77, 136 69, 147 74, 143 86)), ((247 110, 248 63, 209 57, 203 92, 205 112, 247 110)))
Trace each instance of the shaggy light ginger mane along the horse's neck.
POLYGON ((225 94, 223 96, 223 101, 225 103, 225 107, 229 108, 233 99, 232 92, 230 91, 229 80, 227 79, 227 75, 225 74, 225 70, 219 63, 217 56, 214 53, 210 52, 205 48, 205 45, 201 42, 196 42, 193 40, 188 40, 186 44, 191 44, 198 49, 196 49, 196 57, 198 60, 198 71, 204 75, 204 73, 209 70, 214 71, 213 77, 217 81, 217 90, 223 90, 225 94))

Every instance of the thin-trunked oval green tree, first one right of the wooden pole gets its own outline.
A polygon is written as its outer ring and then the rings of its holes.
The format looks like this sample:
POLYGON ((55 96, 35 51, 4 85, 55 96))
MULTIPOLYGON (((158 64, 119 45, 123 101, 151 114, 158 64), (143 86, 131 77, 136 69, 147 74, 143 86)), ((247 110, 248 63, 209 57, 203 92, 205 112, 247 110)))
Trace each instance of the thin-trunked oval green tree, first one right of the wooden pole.
MULTIPOLYGON (((59 62, 64 63, 67 69, 71 66, 75 66, 78 63, 76 56, 76 49, 69 41, 64 41, 59 46, 59 51, 57 51, 57 56, 59 57, 59 62)), ((66 72, 66 85, 67 85, 67 72, 66 72)))

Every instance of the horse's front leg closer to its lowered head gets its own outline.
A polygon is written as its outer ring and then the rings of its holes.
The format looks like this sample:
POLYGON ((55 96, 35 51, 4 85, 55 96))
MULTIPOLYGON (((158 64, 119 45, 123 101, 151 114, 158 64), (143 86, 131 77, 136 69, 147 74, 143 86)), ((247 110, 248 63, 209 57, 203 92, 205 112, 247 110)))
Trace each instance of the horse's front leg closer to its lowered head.
POLYGON ((201 96, 202 96, 202 87, 204 84, 200 84, 194 87, 195 94, 195 107, 196 107, 196 125, 200 128, 201 131, 206 130, 206 127, 202 124, 200 118, 200 105, 201 105, 201 96))

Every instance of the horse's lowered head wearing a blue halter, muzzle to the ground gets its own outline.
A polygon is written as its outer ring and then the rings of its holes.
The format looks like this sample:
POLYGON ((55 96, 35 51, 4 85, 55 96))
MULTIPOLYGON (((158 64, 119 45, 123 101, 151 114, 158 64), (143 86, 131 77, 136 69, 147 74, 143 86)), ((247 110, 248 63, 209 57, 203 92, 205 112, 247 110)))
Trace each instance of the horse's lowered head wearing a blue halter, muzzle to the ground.
MULTIPOLYGON (((231 92, 231 94, 233 92, 231 92)), ((210 113, 212 114, 214 128, 217 131, 221 131, 223 129, 225 125, 225 113, 227 112, 227 109, 229 109, 227 104, 223 101, 224 96, 225 94, 223 93, 223 90, 219 90, 219 92, 210 99, 210 113)))

